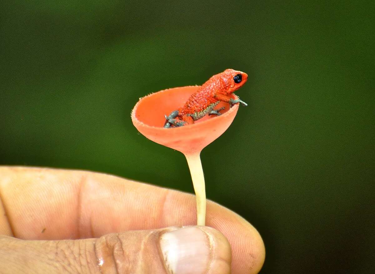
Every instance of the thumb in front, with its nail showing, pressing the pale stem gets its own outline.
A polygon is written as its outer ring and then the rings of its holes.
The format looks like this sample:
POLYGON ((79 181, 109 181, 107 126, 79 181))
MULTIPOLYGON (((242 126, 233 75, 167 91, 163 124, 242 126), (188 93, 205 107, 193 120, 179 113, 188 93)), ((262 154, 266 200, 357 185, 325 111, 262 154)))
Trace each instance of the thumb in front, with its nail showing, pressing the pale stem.
POLYGON ((3 273, 227 274, 231 247, 207 226, 126 231, 83 240, 0 236, 3 273))

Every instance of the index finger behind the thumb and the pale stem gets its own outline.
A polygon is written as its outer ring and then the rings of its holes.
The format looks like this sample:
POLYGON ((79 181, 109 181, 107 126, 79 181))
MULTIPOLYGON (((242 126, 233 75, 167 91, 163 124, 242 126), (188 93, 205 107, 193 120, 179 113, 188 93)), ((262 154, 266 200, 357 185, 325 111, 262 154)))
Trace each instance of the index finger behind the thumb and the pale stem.
MULTIPOLYGON (((0 174, 0 196, 18 238, 91 238, 196 224, 191 194, 87 171, 3 167, 0 174)), ((250 223, 208 201, 206 225, 228 238, 233 273, 260 270, 264 244, 250 223)))

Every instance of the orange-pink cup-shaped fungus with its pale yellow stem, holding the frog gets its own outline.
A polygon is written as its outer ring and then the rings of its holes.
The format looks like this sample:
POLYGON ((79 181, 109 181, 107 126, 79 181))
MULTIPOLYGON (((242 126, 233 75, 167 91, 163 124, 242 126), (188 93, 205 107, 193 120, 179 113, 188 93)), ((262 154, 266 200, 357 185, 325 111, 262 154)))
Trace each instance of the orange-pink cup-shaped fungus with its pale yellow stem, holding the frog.
MULTIPOLYGON (((182 152, 186 156, 192 176, 197 204, 197 224, 205 225, 205 185, 200 160, 201 150, 214 141, 232 123, 239 104, 233 107, 220 102, 215 109, 225 107, 222 115, 206 115, 192 125, 164 128, 165 116, 183 106, 199 86, 184 86, 152 93, 141 98, 132 111, 133 125, 148 139, 182 152)), ((231 94, 233 99, 238 99, 231 94)))

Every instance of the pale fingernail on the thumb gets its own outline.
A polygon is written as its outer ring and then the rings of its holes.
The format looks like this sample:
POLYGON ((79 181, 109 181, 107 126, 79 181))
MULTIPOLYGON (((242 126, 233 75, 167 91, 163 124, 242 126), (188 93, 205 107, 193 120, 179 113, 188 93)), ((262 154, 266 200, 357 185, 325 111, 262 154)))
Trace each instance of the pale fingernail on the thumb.
POLYGON ((203 274, 212 260, 212 236, 196 226, 188 226, 160 237, 165 268, 170 274, 203 274))

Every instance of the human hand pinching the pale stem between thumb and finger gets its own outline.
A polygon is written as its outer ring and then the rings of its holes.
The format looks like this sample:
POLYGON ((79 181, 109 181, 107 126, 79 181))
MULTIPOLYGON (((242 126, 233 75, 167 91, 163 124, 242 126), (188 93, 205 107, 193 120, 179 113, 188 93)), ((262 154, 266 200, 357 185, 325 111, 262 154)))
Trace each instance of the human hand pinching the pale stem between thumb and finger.
POLYGON ((248 274, 264 262, 263 241, 245 219, 207 201, 207 226, 193 226, 195 196, 171 189, 0 167, 0 198, 2 273, 248 274))

